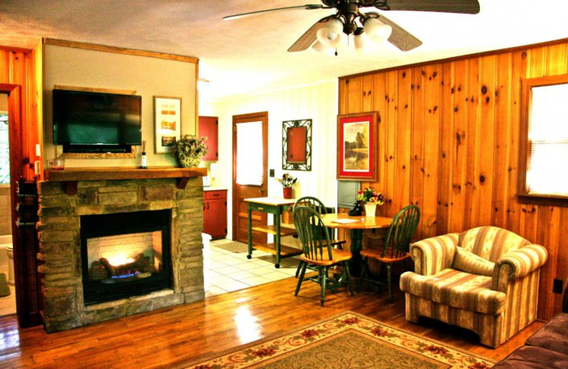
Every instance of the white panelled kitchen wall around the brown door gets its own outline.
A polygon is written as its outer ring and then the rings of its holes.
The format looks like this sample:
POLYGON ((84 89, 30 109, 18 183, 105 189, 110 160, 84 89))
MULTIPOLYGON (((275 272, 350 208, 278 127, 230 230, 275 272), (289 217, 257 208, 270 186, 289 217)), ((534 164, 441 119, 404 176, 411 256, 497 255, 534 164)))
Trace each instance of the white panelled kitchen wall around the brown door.
MULTIPOLYGON (((233 116, 268 111, 268 169, 275 177, 284 172, 298 178, 294 197, 315 196, 327 206, 337 206, 336 137, 337 137, 337 80, 295 87, 241 99, 204 103, 200 115, 219 117, 219 162, 214 187, 225 187, 228 192, 227 238, 232 238, 232 132, 233 116), (312 170, 282 169, 282 122, 312 119, 312 170)), ((268 178, 268 196, 282 197, 282 186, 268 178)), ((269 217, 269 222, 272 219, 269 217)))

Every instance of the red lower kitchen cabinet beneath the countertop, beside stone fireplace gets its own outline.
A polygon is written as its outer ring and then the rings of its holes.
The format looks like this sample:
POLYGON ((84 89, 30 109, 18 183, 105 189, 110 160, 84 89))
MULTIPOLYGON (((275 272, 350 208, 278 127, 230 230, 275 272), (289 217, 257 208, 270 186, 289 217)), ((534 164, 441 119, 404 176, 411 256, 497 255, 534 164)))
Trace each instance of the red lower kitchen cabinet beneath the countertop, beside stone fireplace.
POLYGON ((203 233, 213 239, 226 237, 226 189, 203 192, 203 233))

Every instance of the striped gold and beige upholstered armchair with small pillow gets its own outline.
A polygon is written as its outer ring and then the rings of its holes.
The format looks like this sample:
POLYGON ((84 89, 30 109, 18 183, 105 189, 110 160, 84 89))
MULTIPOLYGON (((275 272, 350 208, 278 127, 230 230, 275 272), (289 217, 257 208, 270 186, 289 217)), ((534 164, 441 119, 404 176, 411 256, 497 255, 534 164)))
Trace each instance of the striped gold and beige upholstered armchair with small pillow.
POLYGON ((410 255, 415 272, 400 276, 406 320, 441 320, 497 347, 536 319, 542 246, 483 226, 413 243, 410 255))

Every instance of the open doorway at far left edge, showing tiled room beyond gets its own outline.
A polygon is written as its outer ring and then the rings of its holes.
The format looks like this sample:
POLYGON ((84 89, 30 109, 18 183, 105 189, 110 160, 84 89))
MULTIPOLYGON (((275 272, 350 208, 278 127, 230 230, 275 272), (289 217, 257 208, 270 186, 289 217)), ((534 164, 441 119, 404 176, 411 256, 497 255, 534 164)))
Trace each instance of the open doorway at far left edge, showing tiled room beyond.
POLYGON ((0 92, 0 316, 16 313, 8 110, 8 94, 0 92))

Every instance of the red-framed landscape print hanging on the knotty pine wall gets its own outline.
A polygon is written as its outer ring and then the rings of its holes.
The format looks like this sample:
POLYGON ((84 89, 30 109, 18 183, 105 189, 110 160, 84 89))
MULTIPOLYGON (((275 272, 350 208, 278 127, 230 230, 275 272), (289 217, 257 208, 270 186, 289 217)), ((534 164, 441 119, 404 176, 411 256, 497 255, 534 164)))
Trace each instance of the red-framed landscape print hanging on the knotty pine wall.
POLYGON ((337 179, 376 181, 377 112, 337 116, 337 179))

